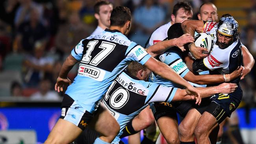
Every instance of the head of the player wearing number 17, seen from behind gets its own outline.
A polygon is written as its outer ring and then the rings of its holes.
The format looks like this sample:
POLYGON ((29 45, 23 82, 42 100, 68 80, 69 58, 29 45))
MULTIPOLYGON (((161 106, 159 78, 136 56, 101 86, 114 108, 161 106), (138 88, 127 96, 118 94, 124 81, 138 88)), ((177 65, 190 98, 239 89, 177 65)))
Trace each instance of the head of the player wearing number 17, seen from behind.
POLYGON ((110 16, 110 26, 119 26, 125 29, 127 35, 132 26, 132 14, 128 7, 117 6, 113 9, 110 16))

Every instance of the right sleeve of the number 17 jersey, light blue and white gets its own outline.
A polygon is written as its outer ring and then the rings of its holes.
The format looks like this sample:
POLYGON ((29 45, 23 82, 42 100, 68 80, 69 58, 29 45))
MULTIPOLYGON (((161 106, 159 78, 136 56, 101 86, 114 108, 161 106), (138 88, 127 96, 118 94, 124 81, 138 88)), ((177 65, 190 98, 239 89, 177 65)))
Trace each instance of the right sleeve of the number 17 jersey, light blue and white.
POLYGON ((151 57, 142 46, 135 43, 130 44, 127 50, 126 57, 132 61, 138 61, 142 65, 144 65, 151 57))

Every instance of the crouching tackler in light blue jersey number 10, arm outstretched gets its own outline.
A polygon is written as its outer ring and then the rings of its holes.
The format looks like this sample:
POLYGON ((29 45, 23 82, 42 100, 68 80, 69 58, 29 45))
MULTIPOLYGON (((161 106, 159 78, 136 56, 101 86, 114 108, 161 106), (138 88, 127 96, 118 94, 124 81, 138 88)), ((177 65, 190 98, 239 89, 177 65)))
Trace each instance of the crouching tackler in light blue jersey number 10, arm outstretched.
MULTIPOLYGON (((137 114, 152 102, 171 102, 178 100, 192 100, 184 89, 175 87, 164 87, 156 83, 148 82, 150 70, 145 66, 133 61, 130 65, 113 81, 108 91, 104 95, 103 105, 113 114, 120 124, 120 133, 115 137, 112 144, 120 142, 122 129, 137 114)), ((224 83, 216 87, 200 88, 202 96, 210 96, 217 91, 232 92, 237 86, 231 83, 224 83), (224 88, 226 87, 226 88, 224 88), (216 91, 217 90, 217 91, 216 91), (207 92, 205 92, 207 91, 207 92)), ((102 106, 102 105, 101 105, 102 106)), ((91 141, 86 138, 92 135, 91 131, 85 131, 75 140, 76 144, 89 144, 91 141)), ((96 138, 96 137, 94 137, 96 138)))

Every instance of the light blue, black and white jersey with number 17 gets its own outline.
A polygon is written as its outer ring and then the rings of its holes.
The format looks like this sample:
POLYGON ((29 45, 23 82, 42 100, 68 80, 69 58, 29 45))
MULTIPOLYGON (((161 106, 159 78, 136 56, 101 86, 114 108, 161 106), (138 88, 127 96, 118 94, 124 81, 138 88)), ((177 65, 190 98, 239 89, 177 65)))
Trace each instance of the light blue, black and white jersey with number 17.
POLYGON ((108 29, 80 41, 71 55, 80 64, 78 75, 65 94, 90 113, 95 112, 111 82, 130 61, 144 65, 151 57, 120 31, 108 29))

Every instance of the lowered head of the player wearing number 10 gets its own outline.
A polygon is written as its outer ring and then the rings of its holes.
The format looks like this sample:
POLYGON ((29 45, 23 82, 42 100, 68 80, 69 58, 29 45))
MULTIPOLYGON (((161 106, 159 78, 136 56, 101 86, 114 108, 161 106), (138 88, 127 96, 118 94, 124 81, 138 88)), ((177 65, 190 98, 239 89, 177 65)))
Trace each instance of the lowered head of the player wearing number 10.
POLYGON ((148 81, 148 77, 149 77, 149 74, 151 72, 146 66, 141 65, 137 61, 132 61, 128 65, 126 70, 132 76, 135 76, 135 77, 137 77, 141 80, 144 80, 144 81, 148 81))

